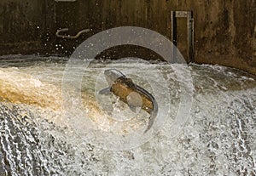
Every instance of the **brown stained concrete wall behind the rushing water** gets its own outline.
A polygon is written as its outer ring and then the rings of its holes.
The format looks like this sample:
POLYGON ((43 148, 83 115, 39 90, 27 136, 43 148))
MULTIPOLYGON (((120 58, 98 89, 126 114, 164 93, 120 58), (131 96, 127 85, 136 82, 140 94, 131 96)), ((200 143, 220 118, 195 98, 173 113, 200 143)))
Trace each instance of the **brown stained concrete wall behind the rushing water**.
MULTIPOLYGON (((230 65, 256 74, 255 7, 254 0, 1 0, 0 54, 71 54, 87 37, 116 26, 146 27, 170 38, 171 10, 193 10, 195 62, 230 65), (56 29, 66 27, 68 34, 84 28, 92 31, 77 40, 56 38, 56 29)), ((183 54, 184 29, 183 20, 178 21, 177 47, 183 54)))

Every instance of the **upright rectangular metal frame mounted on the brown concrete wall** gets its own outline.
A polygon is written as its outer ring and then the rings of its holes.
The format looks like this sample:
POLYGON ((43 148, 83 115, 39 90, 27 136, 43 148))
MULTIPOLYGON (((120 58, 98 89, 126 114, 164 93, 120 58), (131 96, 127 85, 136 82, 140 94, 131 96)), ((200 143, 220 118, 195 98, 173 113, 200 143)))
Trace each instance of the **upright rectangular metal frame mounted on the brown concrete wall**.
MULTIPOLYGON (((177 18, 187 18, 188 32, 188 58, 189 62, 194 61, 194 19, 192 11, 171 11, 171 41, 177 46, 177 18)), ((173 56, 177 55, 175 49, 172 48, 173 56)), ((177 59, 173 57, 174 62, 177 59)))

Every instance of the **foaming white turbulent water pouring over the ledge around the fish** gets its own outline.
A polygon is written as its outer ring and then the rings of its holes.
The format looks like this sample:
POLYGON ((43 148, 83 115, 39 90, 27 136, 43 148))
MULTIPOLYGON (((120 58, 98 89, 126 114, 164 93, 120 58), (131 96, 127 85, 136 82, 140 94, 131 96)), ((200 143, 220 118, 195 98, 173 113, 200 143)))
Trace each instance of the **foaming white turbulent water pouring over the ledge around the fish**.
POLYGON ((256 174, 252 75, 218 65, 98 60, 73 73, 83 76, 77 85, 72 77, 63 79, 67 58, 0 60, 0 175, 256 174), (146 112, 131 112, 114 95, 97 94, 107 86, 107 68, 119 69, 154 94, 160 120, 152 138, 140 133, 148 125, 146 112), (74 108, 77 104, 82 106, 74 108), (184 121, 178 128, 177 118, 184 121), (130 133, 137 140, 117 150, 114 143, 130 133))

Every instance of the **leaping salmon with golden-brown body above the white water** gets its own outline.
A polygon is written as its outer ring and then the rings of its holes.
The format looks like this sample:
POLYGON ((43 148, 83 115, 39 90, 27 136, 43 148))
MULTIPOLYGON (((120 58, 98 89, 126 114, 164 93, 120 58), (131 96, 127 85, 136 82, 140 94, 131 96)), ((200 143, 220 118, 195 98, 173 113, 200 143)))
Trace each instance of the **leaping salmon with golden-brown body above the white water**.
POLYGON ((116 69, 106 70, 104 75, 109 87, 103 88, 99 94, 112 92, 129 105, 131 111, 135 111, 136 107, 141 107, 144 111, 147 111, 150 114, 148 128, 144 131, 144 133, 147 133, 153 126, 154 119, 158 113, 158 105, 152 94, 149 94, 147 90, 139 87, 132 82, 131 78, 125 77, 123 73, 116 69))

